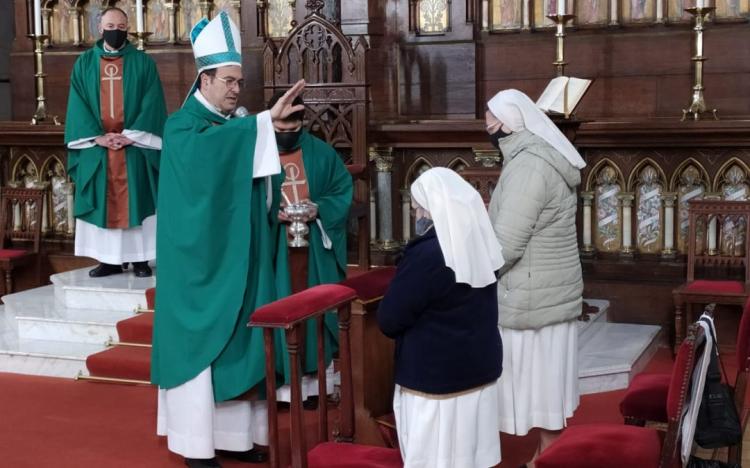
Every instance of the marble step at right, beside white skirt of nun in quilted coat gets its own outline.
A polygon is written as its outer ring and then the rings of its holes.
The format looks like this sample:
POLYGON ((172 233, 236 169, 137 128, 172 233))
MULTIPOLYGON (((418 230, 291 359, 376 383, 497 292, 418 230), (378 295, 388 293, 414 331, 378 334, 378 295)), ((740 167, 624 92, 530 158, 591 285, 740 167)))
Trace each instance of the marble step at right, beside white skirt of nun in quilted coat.
POLYGON ((656 325, 594 323, 578 351, 581 394, 627 388, 659 347, 660 331, 656 325))

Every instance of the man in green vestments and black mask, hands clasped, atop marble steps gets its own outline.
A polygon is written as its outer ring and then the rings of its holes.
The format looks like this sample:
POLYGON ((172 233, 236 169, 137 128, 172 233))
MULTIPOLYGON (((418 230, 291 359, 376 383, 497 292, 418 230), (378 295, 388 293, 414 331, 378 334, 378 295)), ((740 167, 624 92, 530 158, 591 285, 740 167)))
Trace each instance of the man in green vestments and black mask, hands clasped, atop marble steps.
POLYGON ((70 77, 65 144, 75 253, 100 262, 92 277, 121 273, 130 262, 136 276, 150 276, 164 94, 154 61, 127 41, 125 12, 105 9, 99 33, 70 77))

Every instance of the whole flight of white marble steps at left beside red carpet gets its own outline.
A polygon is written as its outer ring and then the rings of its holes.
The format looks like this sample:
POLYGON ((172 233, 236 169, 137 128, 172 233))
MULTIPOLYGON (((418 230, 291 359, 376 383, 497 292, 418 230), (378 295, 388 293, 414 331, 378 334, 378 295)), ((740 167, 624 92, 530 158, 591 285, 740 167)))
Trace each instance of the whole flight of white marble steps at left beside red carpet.
POLYGON ((86 357, 117 339, 116 323, 146 305, 155 280, 132 271, 90 278, 89 268, 52 275, 52 285, 3 297, 0 372, 74 377, 86 357))

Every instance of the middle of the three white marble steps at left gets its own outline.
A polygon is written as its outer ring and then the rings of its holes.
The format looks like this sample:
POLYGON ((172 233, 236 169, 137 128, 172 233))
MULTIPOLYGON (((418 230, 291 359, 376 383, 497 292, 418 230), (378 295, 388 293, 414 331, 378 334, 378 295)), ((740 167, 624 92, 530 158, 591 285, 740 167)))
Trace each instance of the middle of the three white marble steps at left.
POLYGON ((53 285, 3 297, 5 313, 15 318, 20 339, 103 344, 117 338, 115 325, 133 311, 74 309, 55 296, 53 285))

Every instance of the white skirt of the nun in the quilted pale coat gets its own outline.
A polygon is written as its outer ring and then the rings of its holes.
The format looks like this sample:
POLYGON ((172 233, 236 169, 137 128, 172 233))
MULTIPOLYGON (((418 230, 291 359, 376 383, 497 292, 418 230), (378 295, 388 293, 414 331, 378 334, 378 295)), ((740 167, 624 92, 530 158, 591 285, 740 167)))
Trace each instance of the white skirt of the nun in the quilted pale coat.
POLYGON ((503 374, 496 384, 500 432, 522 436, 533 427, 564 428, 580 400, 576 321, 539 330, 499 328, 503 339, 503 374))

